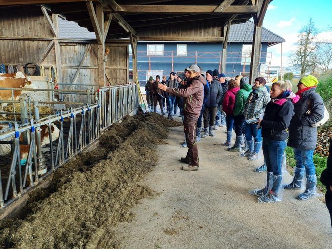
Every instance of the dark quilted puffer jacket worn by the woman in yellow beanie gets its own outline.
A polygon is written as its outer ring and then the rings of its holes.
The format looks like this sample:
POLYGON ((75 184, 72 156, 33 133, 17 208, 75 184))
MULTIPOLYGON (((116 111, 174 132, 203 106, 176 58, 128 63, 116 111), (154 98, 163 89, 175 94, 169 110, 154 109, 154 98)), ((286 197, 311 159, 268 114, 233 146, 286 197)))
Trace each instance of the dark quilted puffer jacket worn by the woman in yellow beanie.
POLYGON ((289 139, 287 145, 301 150, 313 150, 317 144, 317 127, 311 125, 324 117, 324 103, 322 97, 309 88, 300 95, 300 100, 294 104, 295 115, 290 121, 289 139), (306 114, 311 106, 310 114, 306 114))

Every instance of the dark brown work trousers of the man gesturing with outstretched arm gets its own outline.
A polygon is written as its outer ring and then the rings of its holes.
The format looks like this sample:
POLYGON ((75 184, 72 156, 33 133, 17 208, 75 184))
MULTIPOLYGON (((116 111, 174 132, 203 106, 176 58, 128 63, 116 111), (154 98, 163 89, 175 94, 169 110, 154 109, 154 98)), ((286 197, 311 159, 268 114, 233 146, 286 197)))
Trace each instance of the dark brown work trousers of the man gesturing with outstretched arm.
POLYGON ((186 143, 188 146, 187 159, 190 159, 190 165, 198 166, 198 147, 196 144, 196 123, 198 118, 191 117, 187 114, 183 119, 183 131, 186 136, 186 143))

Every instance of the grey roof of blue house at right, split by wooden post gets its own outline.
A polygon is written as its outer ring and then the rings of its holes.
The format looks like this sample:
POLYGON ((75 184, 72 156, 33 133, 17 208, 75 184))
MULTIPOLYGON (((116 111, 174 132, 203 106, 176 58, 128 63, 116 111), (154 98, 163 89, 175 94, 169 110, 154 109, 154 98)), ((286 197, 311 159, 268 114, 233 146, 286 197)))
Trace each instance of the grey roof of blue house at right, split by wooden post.
MULTIPOLYGON (((252 21, 231 25, 228 42, 252 42, 254 26, 252 21)), ((285 42, 285 39, 263 27, 262 42, 285 42)))

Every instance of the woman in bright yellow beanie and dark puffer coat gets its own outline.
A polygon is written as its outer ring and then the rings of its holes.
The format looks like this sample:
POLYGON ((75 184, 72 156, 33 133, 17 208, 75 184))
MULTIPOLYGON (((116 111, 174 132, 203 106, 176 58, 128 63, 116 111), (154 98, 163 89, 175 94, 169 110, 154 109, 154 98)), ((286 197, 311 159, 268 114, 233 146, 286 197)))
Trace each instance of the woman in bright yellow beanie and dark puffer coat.
POLYGON ((299 200, 308 200, 317 195, 317 176, 313 164, 313 150, 317 144, 317 123, 324 117, 322 97, 315 92, 318 80, 312 75, 304 76, 297 84, 300 100, 294 104, 295 115, 290 121, 287 145, 294 149, 296 167, 293 181, 285 189, 301 189, 304 186, 304 174, 307 184, 304 193, 297 196, 299 200))

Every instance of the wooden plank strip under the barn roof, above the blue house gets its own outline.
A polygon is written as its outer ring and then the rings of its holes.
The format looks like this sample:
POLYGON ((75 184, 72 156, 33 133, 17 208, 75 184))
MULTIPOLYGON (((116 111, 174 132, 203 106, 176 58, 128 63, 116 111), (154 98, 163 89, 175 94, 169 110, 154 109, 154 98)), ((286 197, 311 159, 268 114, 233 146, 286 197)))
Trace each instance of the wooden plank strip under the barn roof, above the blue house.
POLYGON ((139 37, 221 37, 222 26, 217 22, 198 23, 193 27, 173 25, 164 29, 138 31, 139 37))

